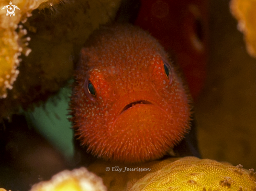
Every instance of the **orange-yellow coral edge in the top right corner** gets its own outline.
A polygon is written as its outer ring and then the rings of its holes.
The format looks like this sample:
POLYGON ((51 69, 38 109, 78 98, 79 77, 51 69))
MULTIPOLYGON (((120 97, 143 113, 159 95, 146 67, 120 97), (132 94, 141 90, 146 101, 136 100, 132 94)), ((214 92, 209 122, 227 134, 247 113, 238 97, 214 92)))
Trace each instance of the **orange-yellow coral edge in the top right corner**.
POLYGON ((256 2, 254 0, 232 0, 230 10, 238 20, 238 29, 243 32, 248 53, 256 57, 256 2))

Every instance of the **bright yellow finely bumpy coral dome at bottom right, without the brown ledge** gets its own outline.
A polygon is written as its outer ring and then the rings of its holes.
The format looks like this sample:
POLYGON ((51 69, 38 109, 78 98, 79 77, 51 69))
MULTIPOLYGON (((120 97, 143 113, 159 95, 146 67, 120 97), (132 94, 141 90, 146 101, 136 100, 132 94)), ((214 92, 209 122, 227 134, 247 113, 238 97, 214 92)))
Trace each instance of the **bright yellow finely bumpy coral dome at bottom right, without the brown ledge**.
POLYGON ((231 166, 209 159, 185 157, 175 162, 170 161, 161 170, 147 174, 130 191, 254 191, 254 174, 253 170, 244 170, 241 165, 231 166))

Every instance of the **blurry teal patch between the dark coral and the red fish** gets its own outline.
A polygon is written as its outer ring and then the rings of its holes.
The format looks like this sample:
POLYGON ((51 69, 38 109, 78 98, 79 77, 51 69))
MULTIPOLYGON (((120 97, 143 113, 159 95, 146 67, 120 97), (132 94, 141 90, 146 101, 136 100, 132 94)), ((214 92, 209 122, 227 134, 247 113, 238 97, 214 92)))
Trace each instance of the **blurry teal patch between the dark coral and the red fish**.
POLYGON ((74 154, 72 124, 68 120, 70 95, 71 88, 64 87, 46 104, 25 113, 27 120, 67 159, 74 154))

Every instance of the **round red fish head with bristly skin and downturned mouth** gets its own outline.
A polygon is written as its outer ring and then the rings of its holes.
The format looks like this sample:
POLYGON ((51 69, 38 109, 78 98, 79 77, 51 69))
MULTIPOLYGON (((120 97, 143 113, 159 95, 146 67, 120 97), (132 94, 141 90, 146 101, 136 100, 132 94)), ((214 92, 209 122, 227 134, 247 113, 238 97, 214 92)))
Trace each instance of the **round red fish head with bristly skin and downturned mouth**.
POLYGON ((189 129, 191 106, 181 78, 157 40, 137 27, 95 32, 82 49, 75 79, 71 121, 94 156, 159 159, 189 129))

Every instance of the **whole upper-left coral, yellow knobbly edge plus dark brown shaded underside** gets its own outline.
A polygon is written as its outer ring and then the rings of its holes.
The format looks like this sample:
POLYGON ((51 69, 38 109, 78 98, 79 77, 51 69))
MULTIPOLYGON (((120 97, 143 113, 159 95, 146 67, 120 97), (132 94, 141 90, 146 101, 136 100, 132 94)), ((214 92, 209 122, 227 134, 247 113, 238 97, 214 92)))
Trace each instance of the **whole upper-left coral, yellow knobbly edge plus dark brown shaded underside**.
POLYGON ((0 32, 0 46, 3 45, 3 51, 9 51, 0 52, 0 94, 2 97, 8 94, 7 98, 0 99, 0 120, 18 113, 20 107, 25 110, 33 108, 57 93, 72 77, 74 62, 85 40, 99 25, 114 19, 120 4, 120 0, 24 2, 13 1, 20 8, 15 10, 15 17, 6 17, 6 10, 0 11, 1 29, 5 30, 0 32), (18 28, 20 32, 15 31, 19 21, 24 22, 21 24, 26 30, 18 28), (26 33, 29 37, 22 38, 26 33), (25 54, 31 50, 29 56, 21 55, 22 61, 18 59, 21 49, 25 54), (8 62, 2 62, 3 59, 8 62), (11 75, 13 73, 15 76, 11 75), (15 83, 10 83, 17 75, 15 83), (6 78, 11 81, 6 81, 6 78), (12 90, 6 91, 7 87, 12 90))

